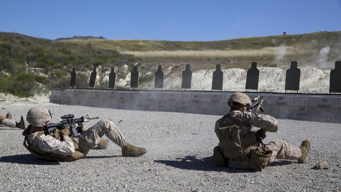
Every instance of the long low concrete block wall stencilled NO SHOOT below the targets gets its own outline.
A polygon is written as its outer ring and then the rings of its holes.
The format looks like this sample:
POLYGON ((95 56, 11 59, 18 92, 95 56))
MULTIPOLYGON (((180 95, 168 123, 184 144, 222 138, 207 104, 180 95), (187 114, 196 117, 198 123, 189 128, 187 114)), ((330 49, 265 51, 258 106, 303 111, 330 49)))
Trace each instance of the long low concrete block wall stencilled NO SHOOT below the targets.
MULTIPOLYGON (((87 90, 55 88, 50 102, 125 110, 170 111, 225 115, 233 92, 87 90)), ((246 93, 251 99, 268 93, 246 93)), ((341 95, 273 93, 265 99, 264 114, 277 119, 341 123, 341 95)))

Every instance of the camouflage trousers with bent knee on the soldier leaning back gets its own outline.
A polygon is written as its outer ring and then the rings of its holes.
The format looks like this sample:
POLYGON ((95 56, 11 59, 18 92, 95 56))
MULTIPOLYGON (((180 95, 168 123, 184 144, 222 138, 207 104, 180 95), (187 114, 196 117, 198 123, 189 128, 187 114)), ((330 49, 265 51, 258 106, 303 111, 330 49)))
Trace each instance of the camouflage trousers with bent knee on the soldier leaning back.
POLYGON ((101 142, 103 135, 116 143, 120 147, 124 147, 127 143, 125 137, 117 126, 110 120, 104 119, 96 123, 94 126, 87 129, 82 135, 75 138, 79 149, 77 151, 84 153, 84 156, 89 150, 101 142))

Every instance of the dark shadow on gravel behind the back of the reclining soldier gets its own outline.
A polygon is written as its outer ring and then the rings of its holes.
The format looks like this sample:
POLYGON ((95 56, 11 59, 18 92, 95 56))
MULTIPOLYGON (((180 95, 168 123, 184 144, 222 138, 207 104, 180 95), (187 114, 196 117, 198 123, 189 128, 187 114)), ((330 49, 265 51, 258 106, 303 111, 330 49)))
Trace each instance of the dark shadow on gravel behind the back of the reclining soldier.
POLYGON ((59 162, 42 161, 32 154, 9 155, 0 157, 0 162, 18 163, 26 165, 59 165, 59 162))

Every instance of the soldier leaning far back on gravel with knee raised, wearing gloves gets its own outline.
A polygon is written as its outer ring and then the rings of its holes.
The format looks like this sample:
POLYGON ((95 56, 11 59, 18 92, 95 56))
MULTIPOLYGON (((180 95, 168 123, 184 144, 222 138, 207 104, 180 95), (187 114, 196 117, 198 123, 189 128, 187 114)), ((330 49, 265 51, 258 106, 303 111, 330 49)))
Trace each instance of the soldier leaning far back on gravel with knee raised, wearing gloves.
POLYGON ((122 148, 123 156, 141 156, 147 152, 146 148, 135 147, 127 142, 117 126, 110 120, 101 120, 85 130, 84 125, 78 125, 77 131, 83 134, 72 137, 70 127, 55 129, 51 135, 46 135, 45 125, 51 120, 51 114, 45 107, 34 107, 27 113, 26 120, 30 125, 23 135, 26 149, 46 161, 75 161, 87 155, 95 146, 101 149, 108 147, 109 140, 101 139, 104 135, 122 148))

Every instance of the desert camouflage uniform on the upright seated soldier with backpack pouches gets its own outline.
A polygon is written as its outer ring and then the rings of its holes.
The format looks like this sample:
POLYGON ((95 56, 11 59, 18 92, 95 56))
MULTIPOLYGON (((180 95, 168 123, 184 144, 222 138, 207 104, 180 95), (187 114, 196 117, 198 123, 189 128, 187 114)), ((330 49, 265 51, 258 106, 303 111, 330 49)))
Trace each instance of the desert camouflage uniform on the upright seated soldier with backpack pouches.
MULTIPOLYGON (((240 113, 240 111, 230 112, 230 114, 232 114, 233 116, 236 116, 237 113, 240 113)), ((254 112, 244 111, 241 114, 241 120, 247 121, 255 127, 262 128, 266 132, 277 132, 277 129, 278 129, 277 120, 270 115, 257 114, 254 112)), ((228 118, 225 118, 224 121, 228 121, 228 118)), ((220 119, 216 121, 215 130, 214 130, 217 134, 217 137, 220 139, 220 136, 218 135, 219 126, 220 126, 220 119)), ((249 126, 241 126, 241 129, 242 129, 242 133, 244 134, 244 136, 250 133, 251 131, 253 131, 253 128, 249 126)), ((272 155, 268 163, 273 162, 275 159, 297 160, 301 156, 301 149, 294 147, 286 143, 283 140, 271 141, 267 145, 265 145, 265 148, 267 150, 272 151, 272 155)), ((229 162, 230 161, 228 161, 228 163, 229 162)))

